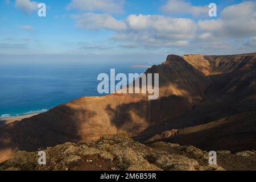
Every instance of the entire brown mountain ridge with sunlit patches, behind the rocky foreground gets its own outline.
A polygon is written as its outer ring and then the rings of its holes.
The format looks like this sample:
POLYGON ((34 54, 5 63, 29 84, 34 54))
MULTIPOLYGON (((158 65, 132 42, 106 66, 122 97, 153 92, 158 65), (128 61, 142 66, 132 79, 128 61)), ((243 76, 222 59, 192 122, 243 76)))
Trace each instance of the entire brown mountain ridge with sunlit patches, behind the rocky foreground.
MULTIPOLYGON (((158 100, 149 101, 146 94, 82 97, 22 122, 10 123, 0 129, 1 159, 9 158, 16 150, 32 151, 116 133, 144 140, 162 131, 253 111, 255 55, 188 55, 184 59, 169 55, 166 62, 146 72, 159 73, 158 100)), ((251 129, 254 126, 252 123, 251 129)), ((252 130, 247 137, 254 136, 252 130)))

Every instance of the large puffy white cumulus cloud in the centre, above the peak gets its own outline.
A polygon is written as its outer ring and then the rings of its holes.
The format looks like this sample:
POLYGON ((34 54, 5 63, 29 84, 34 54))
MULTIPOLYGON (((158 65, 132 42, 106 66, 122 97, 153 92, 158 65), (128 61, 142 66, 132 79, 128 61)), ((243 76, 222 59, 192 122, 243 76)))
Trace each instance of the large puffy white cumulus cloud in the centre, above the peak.
POLYGON ((130 15, 126 24, 126 31, 113 36, 114 40, 128 42, 120 44, 121 47, 188 46, 196 32, 193 20, 162 15, 130 15))

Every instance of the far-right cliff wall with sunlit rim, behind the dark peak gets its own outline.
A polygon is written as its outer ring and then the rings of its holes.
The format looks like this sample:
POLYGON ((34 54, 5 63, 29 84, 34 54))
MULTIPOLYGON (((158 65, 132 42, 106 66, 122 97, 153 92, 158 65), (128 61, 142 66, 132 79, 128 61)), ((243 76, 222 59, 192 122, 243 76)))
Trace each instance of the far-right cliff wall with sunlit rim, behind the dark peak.
POLYGON ((256 53, 230 56, 187 55, 184 59, 200 71, 198 57, 202 57, 200 65, 210 65, 211 72, 207 75, 212 85, 205 90, 205 99, 196 105, 194 113, 204 111, 226 116, 255 110, 256 53))

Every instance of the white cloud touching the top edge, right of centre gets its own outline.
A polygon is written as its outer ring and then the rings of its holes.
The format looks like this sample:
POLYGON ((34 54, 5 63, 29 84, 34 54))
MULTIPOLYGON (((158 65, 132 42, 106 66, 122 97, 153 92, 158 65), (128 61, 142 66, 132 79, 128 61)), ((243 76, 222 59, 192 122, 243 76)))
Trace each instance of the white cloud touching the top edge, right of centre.
POLYGON ((208 16, 208 6, 192 6, 191 3, 181 0, 169 0, 166 5, 162 6, 162 11, 166 14, 193 16, 208 16))

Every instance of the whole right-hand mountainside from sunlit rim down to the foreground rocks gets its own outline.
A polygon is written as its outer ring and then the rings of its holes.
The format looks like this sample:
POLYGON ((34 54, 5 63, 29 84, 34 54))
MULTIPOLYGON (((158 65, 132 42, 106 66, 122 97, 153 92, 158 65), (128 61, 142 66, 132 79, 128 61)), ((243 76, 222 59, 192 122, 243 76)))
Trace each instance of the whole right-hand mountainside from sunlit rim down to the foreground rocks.
POLYGON ((154 137, 147 141, 179 142, 204 150, 255 149, 256 53, 185 55, 184 59, 208 75, 212 85, 192 111, 183 117, 167 120, 168 124, 159 127, 154 137))

